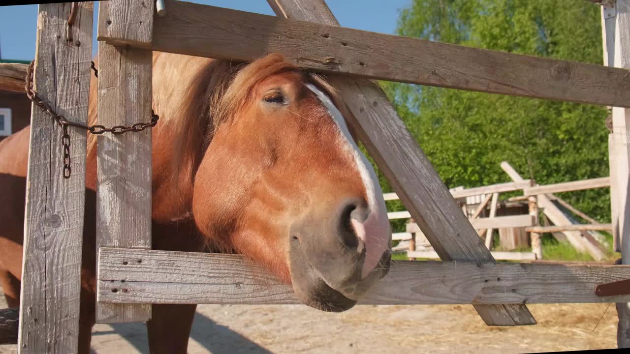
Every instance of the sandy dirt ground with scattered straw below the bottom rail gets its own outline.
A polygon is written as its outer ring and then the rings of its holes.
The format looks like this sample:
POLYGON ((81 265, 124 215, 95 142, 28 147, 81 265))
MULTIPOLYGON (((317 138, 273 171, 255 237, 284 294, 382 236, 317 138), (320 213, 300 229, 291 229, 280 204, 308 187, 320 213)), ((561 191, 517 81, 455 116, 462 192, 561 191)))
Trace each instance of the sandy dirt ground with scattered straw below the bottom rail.
MULTIPOLYGON (((4 297, 0 307, 6 307, 4 297)), ((616 348, 614 304, 528 307, 536 326, 489 327, 471 305, 360 305, 341 314, 302 305, 199 305, 188 352, 511 354, 616 348)), ((98 354, 148 353, 146 327, 98 324, 92 348, 98 354)), ((16 353, 16 346, 0 345, 4 353, 16 353)))

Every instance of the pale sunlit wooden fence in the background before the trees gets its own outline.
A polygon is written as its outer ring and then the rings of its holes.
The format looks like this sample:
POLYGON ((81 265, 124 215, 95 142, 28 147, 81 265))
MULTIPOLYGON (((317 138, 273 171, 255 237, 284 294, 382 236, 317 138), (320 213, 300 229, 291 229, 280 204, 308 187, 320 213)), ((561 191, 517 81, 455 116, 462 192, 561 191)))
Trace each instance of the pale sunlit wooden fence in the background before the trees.
MULTIPOLYGON (((512 166, 510 166, 507 162, 502 163, 502 166, 506 169, 506 171, 508 171, 508 173, 515 173, 512 166)), ((450 190, 450 193, 453 195, 454 198, 459 198, 459 202, 462 205, 462 211, 464 211, 464 214, 469 217, 469 221, 471 222, 473 227, 478 230, 479 236, 483 236, 483 234, 485 234, 484 244, 488 249, 491 249, 492 246, 491 237, 493 229, 499 229, 500 231, 503 231, 506 234, 505 239, 508 239, 508 236, 514 236, 513 233, 517 232, 515 230, 518 229, 522 229, 524 232, 529 233, 530 244, 532 246, 531 252, 493 251, 492 254, 497 260, 542 260, 542 244, 539 240, 541 234, 544 232, 561 232, 563 234, 563 237, 561 237, 561 241, 564 241, 566 239, 566 241, 572 243, 572 245, 579 251, 586 251, 595 260, 600 261, 605 258, 605 246, 601 244, 597 239, 593 237, 588 237, 588 235, 585 235, 584 232, 612 231, 612 224, 599 224, 599 222, 580 212, 580 210, 577 210, 569 203, 564 202, 564 200, 562 200, 561 198, 556 197, 556 195, 554 195, 553 193, 585 190, 591 188, 607 188, 609 186, 609 177, 555 183, 553 185, 534 185, 534 181, 524 180, 511 183, 500 183, 496 185, 481 186, 476 188, 453 188, 450 190), (521 198, 520 200, 529 199, 529 214, 495 216, 499 193, 519 190, 522 190, 525 197, 521 198), (471 198, 471 200, 479 200, 479 203, 476 203, 476 210, 474 210, 471 215, 468 215, 467 207, 469 207, 470 205, 467 204, 470 197, 477 197, 471 198), (532 199, 532 197, 534 198, 532 199), (466 200, 462 200, 464 198, 466 198, 466 200), (573 224, 571 223, 571 220, 568 219, 568 217, 566 217, 566 215, 564 215, 561 210, 559 210, 558 207, 553 205, 553 203, 548 202, 546 206, 547 208, 551 208, 551 210, 542 208, 544 214, 551 215, 551 217, 554 217, 554 220, 556 221, 560 220, 561 224, 547 227, 539 226, 538 210, 540 207, 538 200, 546 200, 546 198, 547 200, 558 201, 558 203, 560 203, 563 207, 568 208, 571 212, 580 215, 580 217, 583 217, 586 220, 590 220, 592 224, 573 224), (492 200, 492 202, 490 202, 490 200, 492 200), (478 218, 481 212, 488 207, 490 207, 490 217, 478 218), (578 236, 574 235, 576 231, 579 232, 578 236), (510 234, 509 232, 512 232, 512 234, 510 234), (567 234, 573 237, 568 237, 567 234), (576 241, 580 242, 578 243, 576 241), (591 244, 592 247, 585 248, 585 243, 591 244)), ((396 195, 396 193, 385 193, 384 198, 385 200, 398 200, 398 195, 396 195)), ((392 239, 394 240, 408 240, 408 243, 405 243, 403 244, 403 246, 396 248, 397 250, 406 249, 406 246, 409 245, 407 256, 410 259, 439 258, 437 256, 437 253, 435 253, 430 245, 428 245, 428 241, 422 234, 420 227, 415 222, 413 222, 413 219, 411 219, 411 214, 409 212, 389 212, 388 216, 389 219, 410 220, 406 227, 406 232, 398 232, 392 234, 392 239)), ((525 244, 527 244, 526 240, 525 244)))

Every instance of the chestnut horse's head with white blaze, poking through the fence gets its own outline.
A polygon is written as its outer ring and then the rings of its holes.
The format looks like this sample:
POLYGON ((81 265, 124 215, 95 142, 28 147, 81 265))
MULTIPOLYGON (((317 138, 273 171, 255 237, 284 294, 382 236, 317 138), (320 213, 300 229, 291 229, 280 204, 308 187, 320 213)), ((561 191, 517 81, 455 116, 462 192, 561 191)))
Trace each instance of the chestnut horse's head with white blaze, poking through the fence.
POLYGON ((304 304, 350 309, 391 260, 381 186, 350 134, 350 113, 321 77, 280 55, 225 72, 214 69, 203 99, 210 123, 192 169, 198 229, 290 283, 304 304))

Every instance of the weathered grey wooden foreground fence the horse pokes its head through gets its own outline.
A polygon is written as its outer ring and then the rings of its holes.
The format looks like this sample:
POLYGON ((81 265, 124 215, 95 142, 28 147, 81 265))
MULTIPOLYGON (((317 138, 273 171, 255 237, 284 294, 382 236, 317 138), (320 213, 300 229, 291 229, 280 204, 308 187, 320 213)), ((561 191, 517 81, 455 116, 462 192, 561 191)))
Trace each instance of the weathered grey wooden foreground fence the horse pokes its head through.
MULTIPOLYGON (((615 106, 611 139, 614 135, 614 144, 623 145, 626 140, 617 137, 626 136, 626 125, 617 117, 620 112, 623 117, 624 108, 617 107, 630 107, 625 69, 343 28, 323 0, 268 2, 278 17, 173 0, 164 1, 165 16, 156 16, 153 1, 101 2, 100 123, 135 123, 149 115, 152 71, 147 49, 232 60, 280 52, 302 67, 329 74, 353 113, 350 125, 443 260, 396 262, 364 304, 473 304, 486 324, 522 325, 536 323, 527 309, 530 303, 630 301, 630 294, 595 294, 600 283, 630 278, 630 266, 495 263, 381 88, 369 81, 615 106)), ((629 6, 630 0, 617 0, 622 33, 628 30, 629 6)), ((69 3, 40 4, 35 88, 43 100, 57 102, 69 120, 84 122, 92 3, 79 3, 81 20, 67 31, 74 42, 65 38, 66 31, 60 32, 63 39, 57 36, 59 28, 68 26, 69 11, 69 3)), ((628 40, 612 41, 617 53, 630 53, 628 40)), ((610 53, 612 47, 607 49, 610 53)), ((630 55, 619 57, 615 66, 630 66, 623 62, 630 55)), ((63 151, 57 127, 37 109, 31 124, 19 348, 22 353, 72 353, 79 317, 86 137, 84 131, 72 130, 72 176, 64 180, 58 173, 63 151), (44 190, 47 198, 42 201, 44 190)), ((99 139, 98 322, 145 321, 151 317, 151 304, 159 303, 296 303, 290 288, 239 256, 151 251, 151 132, 99 139), (116 200, 121 189, 131 198, 116 200), (128 222, 130 213, 143 221, 128 222), (190 266, 191 261, 197 266, 190 266), (127 291, 113 291, 123 280, 127 291)), ((627 175, 627 149, 615 152, 614 159, 613 151, 614 175, 627 175)), ((517 174, 510 176, 514 183, 527 183, 517 174)), ((626 195, 627 183, 622 186, 611 173, 612 180, 611 193, 626 195)), ((622 215, 626 203, 618 200, 613 210, 617 205, 622 215)), ((616 222, 625 236, 625 220, 616 222)), ((630 243, 624 245, 627 264, 630 243)), ((627 318, 620 321, 620 338, 630 333, 627 318)))

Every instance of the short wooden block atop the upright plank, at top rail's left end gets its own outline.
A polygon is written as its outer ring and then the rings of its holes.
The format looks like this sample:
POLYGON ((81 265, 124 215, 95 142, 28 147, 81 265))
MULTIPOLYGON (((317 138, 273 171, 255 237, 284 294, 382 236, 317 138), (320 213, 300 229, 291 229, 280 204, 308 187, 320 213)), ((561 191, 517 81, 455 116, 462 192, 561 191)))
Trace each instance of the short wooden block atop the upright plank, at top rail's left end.
POLYGON ((153 38, 152 0, 110 0, 99 4, 98 40, 102 37, 148 45, 153 38))

